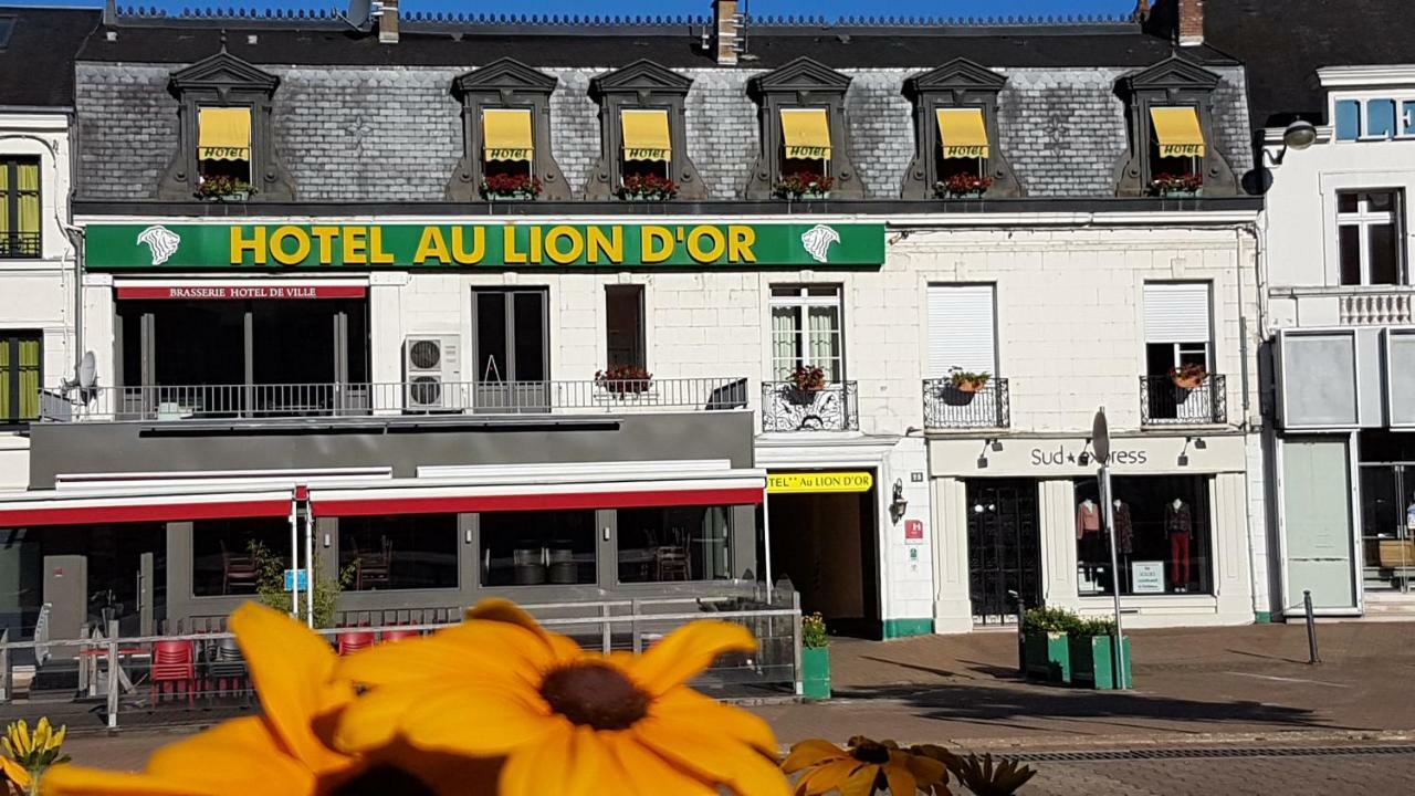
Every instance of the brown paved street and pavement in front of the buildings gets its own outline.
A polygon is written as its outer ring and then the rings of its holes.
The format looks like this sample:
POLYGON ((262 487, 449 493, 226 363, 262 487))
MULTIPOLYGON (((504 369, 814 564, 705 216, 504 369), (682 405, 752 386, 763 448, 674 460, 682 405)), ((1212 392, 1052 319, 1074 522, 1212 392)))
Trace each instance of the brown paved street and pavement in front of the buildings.
MULTIPOLYGON (((782 744, 865 734, 1019 755, 1039 769, 1026 789, 1036 796, 1330 796, 1415 782, 1415 625, 1322 625, 1320 666, 1305 663, 1299 625, 1133 636, 1128 694, 1020 681, 1016 637, 1000 632, 838 640, 835 700, 753 710, 782 744)), ((171 738, 144 729, 71 745, 85 763, 136 766, 171 738)))

